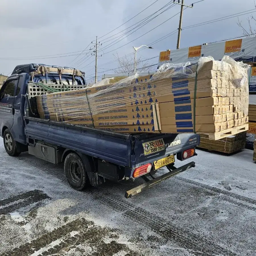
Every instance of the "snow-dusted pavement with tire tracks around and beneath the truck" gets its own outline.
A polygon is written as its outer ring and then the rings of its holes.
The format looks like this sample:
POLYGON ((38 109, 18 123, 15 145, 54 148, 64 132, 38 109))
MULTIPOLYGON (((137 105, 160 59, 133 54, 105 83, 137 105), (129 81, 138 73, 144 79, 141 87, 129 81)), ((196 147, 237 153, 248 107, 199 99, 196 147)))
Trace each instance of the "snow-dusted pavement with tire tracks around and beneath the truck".
POLYGON ((1 142, 0 256, 256 255, 253 152, 197 153, 195 168, 125 199, 142 179, 78 192, 62 164, 1 142))

